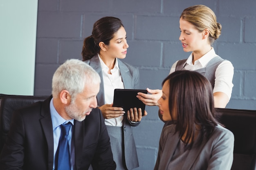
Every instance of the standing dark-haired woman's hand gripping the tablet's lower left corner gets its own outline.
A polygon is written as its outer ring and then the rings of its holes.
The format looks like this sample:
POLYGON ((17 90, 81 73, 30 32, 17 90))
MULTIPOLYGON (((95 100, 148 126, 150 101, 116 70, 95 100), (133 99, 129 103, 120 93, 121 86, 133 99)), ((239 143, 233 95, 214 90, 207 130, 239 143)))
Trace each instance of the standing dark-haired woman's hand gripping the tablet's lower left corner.
POLYGON ((104 119, 111 119, 119 116, 124 116, 124 109, 120 107, 113 107, 113 104, 104 104, 99 107, 104 119))

